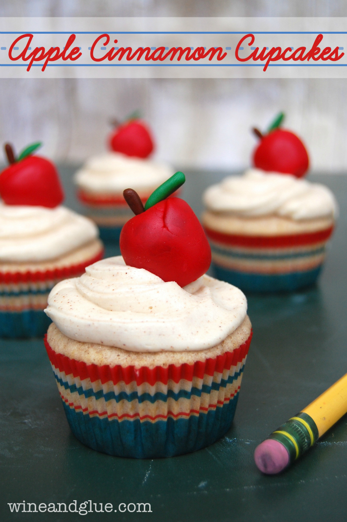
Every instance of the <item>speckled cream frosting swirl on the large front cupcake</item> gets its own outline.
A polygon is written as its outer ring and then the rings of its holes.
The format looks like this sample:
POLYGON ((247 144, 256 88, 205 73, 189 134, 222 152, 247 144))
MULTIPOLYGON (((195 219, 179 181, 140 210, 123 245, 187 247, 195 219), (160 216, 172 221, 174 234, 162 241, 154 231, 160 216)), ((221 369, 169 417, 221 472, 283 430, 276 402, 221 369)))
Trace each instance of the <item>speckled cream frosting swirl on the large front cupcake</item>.
POLYGON ((241 325, 247 301, 238 288, 207 275, 181 288, 117 256, 56 284, 45 312, 82 342, 136 352, 204 350, 241 325))

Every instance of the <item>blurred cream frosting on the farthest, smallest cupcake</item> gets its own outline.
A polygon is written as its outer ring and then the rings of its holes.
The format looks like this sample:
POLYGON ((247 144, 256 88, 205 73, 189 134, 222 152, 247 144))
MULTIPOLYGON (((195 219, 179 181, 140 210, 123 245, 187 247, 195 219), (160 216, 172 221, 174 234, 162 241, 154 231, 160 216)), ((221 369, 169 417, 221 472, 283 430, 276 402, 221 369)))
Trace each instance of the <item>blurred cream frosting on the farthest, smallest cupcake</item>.
POLYGON ((76 172, 74 180, 87 192, 122 193, 128 187, 136 191, 156 188, 173 173, 170 167, 161 163, 109 152, 90 158, 76 172))

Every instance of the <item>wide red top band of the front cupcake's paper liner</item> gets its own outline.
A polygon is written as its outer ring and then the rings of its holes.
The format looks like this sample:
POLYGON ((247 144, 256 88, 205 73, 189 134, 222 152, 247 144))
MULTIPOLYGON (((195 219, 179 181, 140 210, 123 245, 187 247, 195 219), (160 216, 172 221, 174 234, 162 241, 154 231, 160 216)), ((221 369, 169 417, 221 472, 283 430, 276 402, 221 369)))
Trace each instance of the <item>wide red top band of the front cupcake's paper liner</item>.
POLYGON ((231 366, 236 366, 237 363, 241 363, 246 357, 252 334, 251 331, 248 339, 232 352, 225 352, 214 359, 209 358, 205 361, 197 361, 194 364, 181 364, 180 366, 174 364, 169 364, 167 367, 155 366, 154 368, 141 366, 139 369, 135 366, 123 367, 119 364, 113 367, 109 365, 86 364, 83 361, 70 359, 66 355, 52 350, 47 342, 47 336, 44 338, 44 343, 53 367, 62 373, 64 372, 66 376, 72 374, 75 378, 79 377, 81 381, 90 378, 92 383, 99 380, 102 384, 112 381, 115 385, 119 382, 129 384, 135 381, 137 386, 143 383, 153 386, 157 382, 165 385, 169 380, 175 383, 180 382, 181 379, 192 382, 193 377, 202 379, 204 375, 213 376, 214 372, 223 373, 223 370, 229 372, 231 366))

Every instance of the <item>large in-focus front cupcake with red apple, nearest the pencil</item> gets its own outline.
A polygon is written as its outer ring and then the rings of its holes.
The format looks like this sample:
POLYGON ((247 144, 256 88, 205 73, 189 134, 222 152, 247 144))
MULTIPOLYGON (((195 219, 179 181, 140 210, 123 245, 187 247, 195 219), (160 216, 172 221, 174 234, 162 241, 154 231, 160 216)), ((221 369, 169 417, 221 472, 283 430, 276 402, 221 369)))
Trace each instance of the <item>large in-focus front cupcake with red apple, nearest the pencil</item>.
POLYGON ((246 298, 204 275, 210 248, 185 201, 155 197, 138 212, 127 199, 137 215, 123 257, 52 290, 47 353, 83 444, 121 457, 193 452, 233 420, 252 336, 246 298))

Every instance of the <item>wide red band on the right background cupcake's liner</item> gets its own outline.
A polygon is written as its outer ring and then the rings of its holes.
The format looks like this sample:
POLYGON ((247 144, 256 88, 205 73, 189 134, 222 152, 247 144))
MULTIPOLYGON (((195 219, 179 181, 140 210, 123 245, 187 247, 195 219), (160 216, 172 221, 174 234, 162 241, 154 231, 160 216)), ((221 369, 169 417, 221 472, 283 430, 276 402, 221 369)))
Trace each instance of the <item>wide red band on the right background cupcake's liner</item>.
POLYGON ((209 239, 222 245, 247 246, 249 248, 285 248, 288 246, 308 245, 327 241, 333 229, 334 227, 329 227, 325 230, 307 234, 276 236, 223 234, 207 227, 205 227, 205 232, 209 239))

